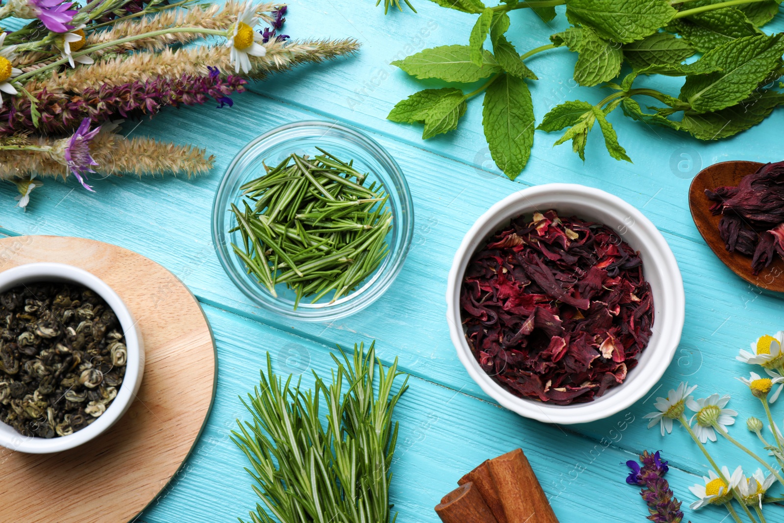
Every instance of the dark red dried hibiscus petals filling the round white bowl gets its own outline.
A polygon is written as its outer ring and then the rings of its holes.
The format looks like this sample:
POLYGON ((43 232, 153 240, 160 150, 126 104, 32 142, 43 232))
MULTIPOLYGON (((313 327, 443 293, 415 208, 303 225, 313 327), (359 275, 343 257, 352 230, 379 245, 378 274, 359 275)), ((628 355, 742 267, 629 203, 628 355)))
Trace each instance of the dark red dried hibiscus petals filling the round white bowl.
MULTIPOLYGON (((771 252, 784 250, 784 227, 769 235, 771 252)), ((474 253, 460 306, 481 368, 558 405, 623 383, 653 325, 639 254, 609 227, 552 210, 511 220, 474 253)))

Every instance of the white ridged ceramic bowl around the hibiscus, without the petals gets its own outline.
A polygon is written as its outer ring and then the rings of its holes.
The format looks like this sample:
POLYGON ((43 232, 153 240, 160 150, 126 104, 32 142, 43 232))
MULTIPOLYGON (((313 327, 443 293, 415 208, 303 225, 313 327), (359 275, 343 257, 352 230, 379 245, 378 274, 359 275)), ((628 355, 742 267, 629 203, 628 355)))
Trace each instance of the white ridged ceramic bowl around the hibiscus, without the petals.
POLYGON ((449 271, 446 291, 447 320, 452 343, 471 378, 495 401, 521 416, 545 423, 586 423, 627 409, 662 377, 681 341, 685 317, 681 271, 670 246, 648 218, 621 198, 573 183, 547 183, 510 194, 488 209, 466 233, 449 271), (578 216, 604 223, 640 252, 645 279, 651 284, 654 323, 648 347, 626 380, 601 398, 572 405, 548 405, 518 398, 481 369, 466 342, 460 318, 460 287, 466 264, 487 238, 521 214, 555 209, 561 216, 578 216))

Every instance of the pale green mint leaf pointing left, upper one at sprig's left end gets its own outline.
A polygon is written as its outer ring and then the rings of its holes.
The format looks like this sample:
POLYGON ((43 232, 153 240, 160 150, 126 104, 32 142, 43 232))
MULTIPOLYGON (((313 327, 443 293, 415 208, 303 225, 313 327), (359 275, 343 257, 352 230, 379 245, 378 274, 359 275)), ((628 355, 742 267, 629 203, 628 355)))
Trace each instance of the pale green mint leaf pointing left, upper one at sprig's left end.
POLYGON ((471 61, 468 45, 441 45, 425 49, 404 60, 395 60, 392 65, 400 67, 420 80, 438 78, 445 82, 471 83, 501 70, 487 49, 482 56, 484 58, 482 66, 477 67, 471 61))

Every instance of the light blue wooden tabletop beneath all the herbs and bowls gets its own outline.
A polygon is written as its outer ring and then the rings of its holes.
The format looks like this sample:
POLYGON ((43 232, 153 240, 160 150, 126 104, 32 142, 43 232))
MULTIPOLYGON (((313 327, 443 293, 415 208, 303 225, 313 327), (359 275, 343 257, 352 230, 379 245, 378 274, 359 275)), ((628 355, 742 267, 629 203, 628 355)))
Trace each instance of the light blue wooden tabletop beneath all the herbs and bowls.
MULTIPOLYGON (((752 444, 747 416, 764 417, 735 376, 750 367, 735 361, 740 348, 784 328, 781 296, 761 293, 728 271, 702 242, 688 212, 687 190, 699 166, 727 159, 757 162, 784 158, 784 114, 719 143, 698 143, 668 129, 652 129, 614 114, 612 122, 634 164, 608 157, 599 136, 590 136, 583 164, 571 147, 551 147, 557 136, 536 132, 532 158, 516 182, 489 161, 481 133, 481 104, 474 100, 456 132, 423 142, 421 127, 385 120, 390 107, 422 84, 389 65, 426 47, 467 43, 474 16, 414 0, 419 14, 383 16, 371 0, 294 0, 285 32, 297 37, 355 37, 358 56, 302 67, 252 85, 234 107, 167 110, 132 129, 135 135, 194 143, 217 158, 199 179, 96 180, 94 194, 75 180, 48 182, 34 193, 31 210, 13 207, 15 188, 0 186, 4 234, 63 234, 122 245, 162 263, 198 296, 215 333, 218 387, 201 440, 176 479, 136 521, 236 521, 256 506, 245 456, 229 440, 235 419, 245 416, 239 394, 258 383, 267 352, 295 372, 328 372, 328 353, 339 343, 377 340, 385 362, 399 356, 412 375, 397 413, 401 423, 392 499, 399 523, 438 521, 433 507, 467 470, 489 457, 522 447, 561 523, 646 521, 638 492, 624 482, 625 462, 643 449, 662 450, 672 467, 668 479, 693 523, 720 521, 724 510, 688 510, 688 485, 707 473, 705 459, 682 430, 661 438, 642 416, 656 395, 681 380, 699 383, 697 394, 733 394, 741 414, 732 434, 752 444), (240 148, 286 122, 337 120, 378 140, 401 165, 416 207, 414 245, 389 292, 365 311, 329 324, 286 321, 249 303, 223 273, 212 247, 209 221, 220 177, 240 148), (680 163, 679 163, 680 162, 680 163), (691 162, 691 163, 690 163, 691 162), (674 167, 673 167, 674 166, 674 167), (463 234, 492 203, 523 187, 548 182, 583 183, 617 194, 637 206, 662 231, 677 256, 686 290, 686 324, 675 360, 651 396, 597 423, 557 427, 523 419, 491 401, 470 380, 448 336, 445 288, 452 255, 463 234), (290 359, 290 355, 299 355, 290 359), (288 364, 287 364, 288 361, 288 364)), ((511 13, 511 36, 521 52, 547 42, 564 28, 533 13, 511 13)), ((776 17, 766 31, 784 30, 776 17)), ((575 56, 566 49, 542 53, 530 66, 539 118, 564 100, 596 103, 599 88, 575 88, 575 56)), ((666 329, 666 325, 659 325, 666 329)), ((187 365, 187 361, 183 361, 187 365)), ((784 403, 784 401, 782 401, 784 403)), ((784 417, 778 409, 776 418, 784 417)), ((757 466, 726 442, 710 445, 720 465, 757 466)), ((784 521, 784 508, 770 507, 768 521, 784 521)), ((728 519, 729 521, 729 519, 728 519)))

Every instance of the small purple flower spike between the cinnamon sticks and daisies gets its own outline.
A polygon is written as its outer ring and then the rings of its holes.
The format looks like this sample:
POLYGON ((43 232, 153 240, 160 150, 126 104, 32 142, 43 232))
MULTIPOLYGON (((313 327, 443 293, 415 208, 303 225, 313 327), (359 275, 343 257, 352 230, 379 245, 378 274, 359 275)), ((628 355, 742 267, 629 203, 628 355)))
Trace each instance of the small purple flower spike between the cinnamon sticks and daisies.
POLYGON ((649 453, 647 450, 640 455, 640 462, 630 459, 626 466, 631 469, 626 483, 644 487, 640 496, 648 504, 648 516, 654 523, 681 523, 684 513, 681 502, 673 495, 670 485, 663 478, 670 467, 662 460, 659 452, 649 453))

